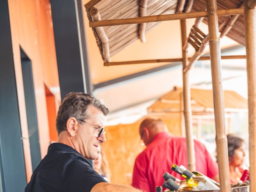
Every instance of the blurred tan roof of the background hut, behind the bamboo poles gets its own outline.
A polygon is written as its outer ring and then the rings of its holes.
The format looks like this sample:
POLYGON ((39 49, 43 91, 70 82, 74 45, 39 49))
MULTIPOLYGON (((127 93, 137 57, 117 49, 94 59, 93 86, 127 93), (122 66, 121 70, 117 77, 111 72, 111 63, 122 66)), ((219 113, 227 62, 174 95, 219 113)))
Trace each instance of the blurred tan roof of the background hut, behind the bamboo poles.
MULTIPOLYGON (((182 112, 182 88, 174 88, 148 108, 148 112, 182 112)), ((193 113, 213 112, 212 90, 191 88, 191 108, 193 113)), ((247 100, 234 91, 224 90, 225 112, 247 111, 247 100)))

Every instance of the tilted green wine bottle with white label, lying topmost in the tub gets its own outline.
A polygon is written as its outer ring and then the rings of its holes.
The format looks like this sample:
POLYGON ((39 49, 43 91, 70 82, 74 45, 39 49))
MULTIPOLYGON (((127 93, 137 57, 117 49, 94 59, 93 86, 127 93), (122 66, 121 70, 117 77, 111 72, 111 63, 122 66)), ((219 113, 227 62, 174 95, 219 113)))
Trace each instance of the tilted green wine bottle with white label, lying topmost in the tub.
POLYGON ((187 183, 190 187, 194 188, 195 190, 218 190, 220 189, 214 183, 210 181, 210 179, 206 176, 196 176, 184 166, 180 168, 176 164, 172 165, 172 170, 177 172, 178 174, 182 175, 184 178, 187 179, 187 183))

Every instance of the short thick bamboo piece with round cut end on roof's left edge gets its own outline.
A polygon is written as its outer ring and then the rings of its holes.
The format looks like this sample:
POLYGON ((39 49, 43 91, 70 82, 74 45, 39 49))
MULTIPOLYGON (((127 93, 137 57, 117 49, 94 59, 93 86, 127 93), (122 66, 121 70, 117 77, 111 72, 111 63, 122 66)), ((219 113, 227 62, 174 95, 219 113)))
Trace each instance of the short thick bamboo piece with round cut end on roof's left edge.
MULTIPOLYGON (((98 10, 95 7, 90 8, 90 16, 92 17, 93 21, 100 21, 100 13, 98 12, 98 10)), ((108 36, 106 35, 104 28, 103 27, 96 27, 95 28, 98 36, 101 40, 102 43, 102 54, 104 57, 104 60, 107 62, 110 62, 110 52, 109 52, 109 44, 108 44, 108 36)))

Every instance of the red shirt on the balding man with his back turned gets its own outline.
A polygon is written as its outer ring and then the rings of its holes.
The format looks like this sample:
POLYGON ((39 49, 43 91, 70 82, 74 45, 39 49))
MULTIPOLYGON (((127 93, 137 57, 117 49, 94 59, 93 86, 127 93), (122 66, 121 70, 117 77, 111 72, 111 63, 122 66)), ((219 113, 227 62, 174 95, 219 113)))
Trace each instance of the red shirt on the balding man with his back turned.
MULTIPOLYGON (((218 165, 199 141, 194 140, 196 170, 212 178, 218 174, 218 165)), ((146 192, 155 192, 164 183, 163 174, 169 172, 178 179, 184 178, 171 170, 172 164, 188 167, 186 138, 174 137, 168 132, 154 136, 152 142, 135 160, 132 186, 146 192)))

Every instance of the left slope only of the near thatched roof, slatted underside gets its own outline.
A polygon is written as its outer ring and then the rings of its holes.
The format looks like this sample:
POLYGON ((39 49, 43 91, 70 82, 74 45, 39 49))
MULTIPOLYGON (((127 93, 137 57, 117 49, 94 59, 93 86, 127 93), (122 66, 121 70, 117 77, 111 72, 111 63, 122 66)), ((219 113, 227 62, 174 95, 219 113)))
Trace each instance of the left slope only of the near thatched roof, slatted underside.
MULTIPOLYGON (((148 0, 147 15, 173 14, 176 11, 178 0, 148 0)), ((92 21, 89 10, 95 7, 100 13, 101 20, 134 18, 140 16, 140 1, 138 0, 91 0, 86 6, 88 18, 92 21), (94 4, 93 2, 98 2, 94 4)), ((146 25, 146 33, 152 30, 159 22, 146 25)), ((127 45, 139 38, 139 25, 119 25, 103 27, 109 38, 110 56, 120 52, 127 45)), ((94 35, 102 54, 102 42, 96 30, 94 35)), ((104 60, 104 56, 102 54, 104 60)))

